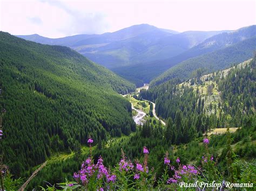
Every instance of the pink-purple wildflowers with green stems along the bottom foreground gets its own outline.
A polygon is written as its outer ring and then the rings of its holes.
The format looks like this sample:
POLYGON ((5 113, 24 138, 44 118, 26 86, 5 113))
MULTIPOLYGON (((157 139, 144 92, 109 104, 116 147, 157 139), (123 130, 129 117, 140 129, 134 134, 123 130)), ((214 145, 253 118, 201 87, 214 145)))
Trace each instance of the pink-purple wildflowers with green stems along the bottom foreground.
MULTIPOLYGON (((89 143, 91 149, 93 140, 89 138, 87 143, 89 143)), ((214 164, 214 157, 213 155, 208 154, 207 145, 209 140, 205 138, 203 143, 205 144, 207 153, 202 157, 201 167, 184 165, 181 163, 179 157, 171 162, 169 153, 166 152, 164 156, 165 171, 161 176, 162 178, 158 181, 158 187, 163 189, 176 189, 180 182, 193 183, 203 177, 202 174, 205 172, 205 169, 210 171, 211 166, 209 166, 209 164, 214 164)), ((97 164, 93 164, 90 155, 90 157, 83 162, 80 171, 73 174, 73 178, 77 181, 75 185, 71 182, 67 186, 73 188, 74 186, 79 185, 84 187, 85 190, 152 189, 154 188, 153 186, 156 178, 153 174, 153 169, 149 171, 149 167, 147 166, 150 152, 146 146, 143 147, 142 152, 144 154, 143 162, 136 160, 133 163, 131 160, 127 160, 125 153, 122 150, 122 158, 112 172, 103 165, 102 157, 99 157, 97 164)), ((213 171, 211 170, 211 172, 213 171)))

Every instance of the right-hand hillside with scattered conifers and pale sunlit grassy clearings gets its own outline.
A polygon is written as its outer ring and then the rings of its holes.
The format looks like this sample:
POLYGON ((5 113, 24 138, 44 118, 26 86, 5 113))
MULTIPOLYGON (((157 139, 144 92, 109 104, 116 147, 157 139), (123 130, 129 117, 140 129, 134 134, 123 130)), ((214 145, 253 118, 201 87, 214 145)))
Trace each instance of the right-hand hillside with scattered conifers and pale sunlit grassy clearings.
MULTIPOLYGON (((255 58, 234 68, 180 83, 172 79, 140 96, 156 101, 158 116, 174 122, 170 130, 178 144, 212 128, 240 127, 255 115, 255 58)), ((172 137, 171 136, 171 137, 172 137)))

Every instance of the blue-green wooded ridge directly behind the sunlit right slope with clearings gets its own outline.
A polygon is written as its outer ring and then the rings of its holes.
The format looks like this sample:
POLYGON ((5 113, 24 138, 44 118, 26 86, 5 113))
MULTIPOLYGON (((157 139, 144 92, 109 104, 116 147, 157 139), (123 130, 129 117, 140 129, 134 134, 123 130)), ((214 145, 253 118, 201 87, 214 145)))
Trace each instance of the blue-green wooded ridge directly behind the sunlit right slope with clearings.
POLYGON ((234 63, 239 63, 252 58, 256 49, 256 36, 242 40, 217 51, 205 53, 203 55, 187 59, 178 65, 166 70, 159 77, 151 81, 151 87, 165 83, 173 78, 188 79, 194 72, 209 73, 219 69, 230 67, 234 63))

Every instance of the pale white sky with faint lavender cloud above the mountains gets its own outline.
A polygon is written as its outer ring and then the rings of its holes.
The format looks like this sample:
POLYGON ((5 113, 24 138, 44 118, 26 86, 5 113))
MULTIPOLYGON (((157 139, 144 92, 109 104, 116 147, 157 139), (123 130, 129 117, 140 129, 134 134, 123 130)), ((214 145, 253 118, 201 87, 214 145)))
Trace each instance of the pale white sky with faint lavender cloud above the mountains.
POLYGON ((256 0, 0 0, 0 31, 60 38, 136 24, 184 31, 256 24, 256 0))

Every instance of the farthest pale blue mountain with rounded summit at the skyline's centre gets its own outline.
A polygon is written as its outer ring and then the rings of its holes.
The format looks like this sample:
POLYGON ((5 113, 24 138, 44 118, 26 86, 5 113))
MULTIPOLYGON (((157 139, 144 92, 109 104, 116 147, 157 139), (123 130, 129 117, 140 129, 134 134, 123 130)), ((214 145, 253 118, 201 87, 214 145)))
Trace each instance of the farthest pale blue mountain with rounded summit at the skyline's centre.
MULTIPOLYGON (((160 38, 172 36, 172 34, 177 33, 177 31, 158 29, 155 26, 141 24, 99 35, 81 34, 58 39, 45 38, 37 34, 18 37, 42 44, 69 46, 86 56, 86 58, 108 68, 113 68, 116 66, 130 65, 147 57, 150 59, 150 54, 161 48, 157 44, 160 38)), ((163 50, 158 50, 159 53, 155 53, 157 54, 156 56, 152 54, 151 59, 158 59, 159 56, 163 56, 166 48, 169 47, 163 47, 163 50)), ((179 53, 180 50, 177 51, 179 53)))

